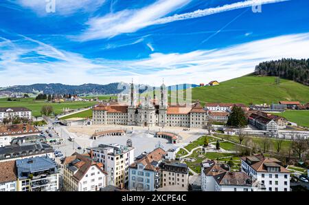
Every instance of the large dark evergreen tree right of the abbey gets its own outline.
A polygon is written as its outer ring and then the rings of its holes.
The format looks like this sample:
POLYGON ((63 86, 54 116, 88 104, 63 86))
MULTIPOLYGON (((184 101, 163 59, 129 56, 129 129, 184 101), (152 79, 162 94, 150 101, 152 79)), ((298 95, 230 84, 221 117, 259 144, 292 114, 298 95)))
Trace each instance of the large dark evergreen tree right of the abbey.
POLYGON ((245 127, 248 125, 247 119, 244 116, 244 111, 241 107, 233 106, 231 114, 227 120, 227 125, 232 127, 245 127))

